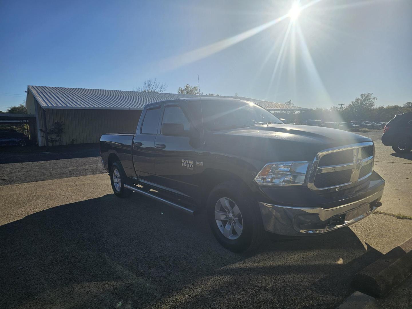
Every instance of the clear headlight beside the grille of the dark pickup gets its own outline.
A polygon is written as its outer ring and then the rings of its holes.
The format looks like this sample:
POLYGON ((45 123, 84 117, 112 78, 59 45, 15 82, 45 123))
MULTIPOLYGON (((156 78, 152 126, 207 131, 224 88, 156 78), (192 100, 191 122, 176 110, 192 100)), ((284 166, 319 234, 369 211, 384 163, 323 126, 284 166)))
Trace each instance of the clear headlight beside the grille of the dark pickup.
POLYGON ((309 162, 275 162, 266 164, 255 177, 258 185, 303 185, 309 162))

